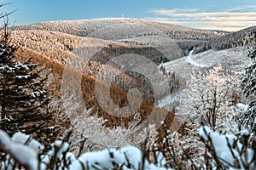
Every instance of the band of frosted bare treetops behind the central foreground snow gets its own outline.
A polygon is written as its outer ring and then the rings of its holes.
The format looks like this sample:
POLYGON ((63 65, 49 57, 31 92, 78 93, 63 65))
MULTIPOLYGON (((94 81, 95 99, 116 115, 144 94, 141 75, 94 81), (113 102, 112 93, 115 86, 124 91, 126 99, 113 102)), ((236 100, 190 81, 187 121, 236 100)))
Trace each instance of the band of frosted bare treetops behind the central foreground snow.
MULTIPOLYGON (((70 150, 76 155, 89 150, 102 150, 120 148, 126 145, 141 147, 149 150, 156 142, 158 132, 154 125, 140 126, 141 116, 137 113, 134 120, 125 127, 107 127, 108 120, 99 116, 91 116, 91 110, 84 110, 83 103, 77 102, 73 96, 64 95, 61 99, 62 116, 70 120, 69 128, 65 134, 71 133, 68 142, 70 150)), ((67 136, 67 135, 64 135, 67 136)))

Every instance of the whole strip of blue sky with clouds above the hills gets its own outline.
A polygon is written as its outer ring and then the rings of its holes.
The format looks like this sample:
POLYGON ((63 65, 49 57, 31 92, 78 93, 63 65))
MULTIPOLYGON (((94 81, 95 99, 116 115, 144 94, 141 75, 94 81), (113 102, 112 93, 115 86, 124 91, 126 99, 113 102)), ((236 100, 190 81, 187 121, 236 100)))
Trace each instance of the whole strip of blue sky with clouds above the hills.
POLYGON ((255 0, 0 0, 15 26, 48 20, 139 18, 236 31, 256 26, 255 0))

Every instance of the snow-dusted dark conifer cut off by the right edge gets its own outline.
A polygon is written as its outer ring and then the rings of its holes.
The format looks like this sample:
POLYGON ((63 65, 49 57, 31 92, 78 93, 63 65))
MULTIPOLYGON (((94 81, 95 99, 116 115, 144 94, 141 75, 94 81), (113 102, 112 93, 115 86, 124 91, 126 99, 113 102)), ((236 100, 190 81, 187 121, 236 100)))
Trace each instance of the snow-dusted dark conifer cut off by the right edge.
POLYGON ((252 59, 248 65, 244 78, 241 81, 241 93, 247 99, 247 109, 238 114, 241 127, 249 128, 256 132, 256 46, 249 51, 248 57, 252 59))

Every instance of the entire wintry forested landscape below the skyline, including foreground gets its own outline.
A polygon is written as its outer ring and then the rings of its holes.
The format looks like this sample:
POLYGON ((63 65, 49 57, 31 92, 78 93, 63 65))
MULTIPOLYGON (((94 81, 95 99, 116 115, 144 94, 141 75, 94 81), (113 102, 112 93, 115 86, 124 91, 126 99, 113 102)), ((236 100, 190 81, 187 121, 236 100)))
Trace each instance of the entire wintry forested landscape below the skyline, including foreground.
POLYGON ((255 27, 5 23, 1 169, 254 169, 255 51, 255 27))

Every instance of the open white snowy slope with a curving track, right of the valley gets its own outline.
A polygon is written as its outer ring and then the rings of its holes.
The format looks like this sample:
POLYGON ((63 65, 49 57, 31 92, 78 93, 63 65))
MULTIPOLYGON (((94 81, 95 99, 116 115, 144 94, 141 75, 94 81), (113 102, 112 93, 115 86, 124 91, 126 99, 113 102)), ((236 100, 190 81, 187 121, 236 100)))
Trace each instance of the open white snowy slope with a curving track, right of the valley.
MULTIPOLYGON (((231 71, 236 74, 241 73, 243 68, 251 62, 249 59, 247 59, 246 48, 230 48, 219 51, 208 50, 200 54, 192 53, 193 51, 190 51, 188 56, 180 59, 174 59, 161 65, 166 67, 166 71, 175 71, 180 76, 184 77, 187 84, 189 84, 191 72, 193 70, 205 70, 220 63, 224 70, 231 71)), ((158 105, 171 111, 172 104, 179 101, 180 95, 182 94, 172 94, 171 96, 166 96, 164 99, 160 99, 158 101, 158 105)))

